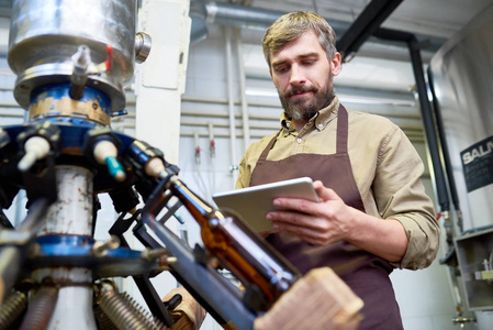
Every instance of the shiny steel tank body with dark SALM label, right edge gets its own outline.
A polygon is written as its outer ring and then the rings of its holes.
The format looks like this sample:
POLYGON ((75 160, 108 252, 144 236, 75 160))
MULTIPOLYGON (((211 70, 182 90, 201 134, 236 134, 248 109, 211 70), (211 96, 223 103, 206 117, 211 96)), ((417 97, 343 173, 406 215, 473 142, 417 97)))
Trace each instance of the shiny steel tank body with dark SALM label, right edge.
POLYGON ((493 224, 492 31, 490 7, 430 62, 464 230, 493 224))

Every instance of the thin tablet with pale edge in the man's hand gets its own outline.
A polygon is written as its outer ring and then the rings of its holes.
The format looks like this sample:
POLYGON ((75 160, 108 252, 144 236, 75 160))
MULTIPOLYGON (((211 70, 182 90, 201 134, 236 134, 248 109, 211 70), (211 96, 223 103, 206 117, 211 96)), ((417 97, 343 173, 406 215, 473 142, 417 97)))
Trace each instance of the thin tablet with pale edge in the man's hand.
POLYGON ((320 201, 310 177, 220 193, 213 195, 212 199, 220 209, 239 213, 255 230, 270 231, 272 223, 266 219, 266 215, 276 209, 272 201, 277 197, 320 201))

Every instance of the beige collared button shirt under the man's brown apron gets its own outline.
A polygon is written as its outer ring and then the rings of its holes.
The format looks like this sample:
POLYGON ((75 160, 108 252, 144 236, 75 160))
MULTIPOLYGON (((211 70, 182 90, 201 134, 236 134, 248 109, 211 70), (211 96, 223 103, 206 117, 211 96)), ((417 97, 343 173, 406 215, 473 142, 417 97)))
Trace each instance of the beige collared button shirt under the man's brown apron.
MULTIPOLYGON (((300 132, 282 114, 281 132, 267 160, 279 161, 299 153, 336 153, 338 108, 336 97, 300 132)), ((438 251, 440 229, 419 179, 424 172, 419 155, 404 132, 383 117, 348 110, 348 154, 367 213, 395 219, 407 233, 407 251, 400 263, 392 265, 410 270, 428 266, 438 251)), ((276 134, 248 147, 239 164, 236 188, 249 186, 261 152, 276 134)))

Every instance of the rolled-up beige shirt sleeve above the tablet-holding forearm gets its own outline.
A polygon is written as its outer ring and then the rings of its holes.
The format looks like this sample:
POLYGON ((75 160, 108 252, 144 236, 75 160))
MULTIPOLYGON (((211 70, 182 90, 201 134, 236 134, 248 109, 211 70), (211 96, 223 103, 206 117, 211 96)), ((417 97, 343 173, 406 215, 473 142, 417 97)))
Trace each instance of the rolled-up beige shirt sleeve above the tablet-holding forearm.
POLYGON ((373 194, 380 216, 402 223, 408 245, 394 267, 418 270, 432 264, 438 252, 440 228, 433 201, 421 182, 423 162, 400 130, 391 131, 383 141, 373 182, 373 194))

